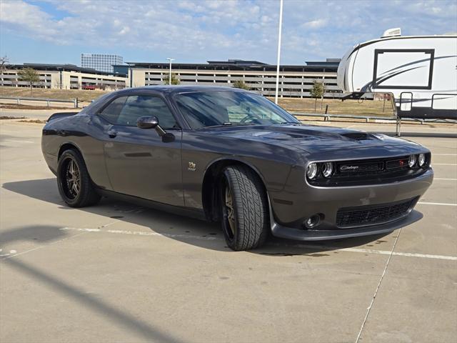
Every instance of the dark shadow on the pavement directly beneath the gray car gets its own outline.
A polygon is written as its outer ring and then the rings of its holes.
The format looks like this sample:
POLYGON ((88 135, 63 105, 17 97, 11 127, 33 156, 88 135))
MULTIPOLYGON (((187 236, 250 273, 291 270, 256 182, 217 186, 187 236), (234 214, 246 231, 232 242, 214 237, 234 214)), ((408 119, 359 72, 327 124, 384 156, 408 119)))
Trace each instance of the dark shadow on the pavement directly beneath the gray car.
MULTIPOLYGON (((67 207, 61 199, 57 190, 56 179, 35 179, 19 182, 7 182, 3 188, 17 194, 39 199, 44 202, 60 205, 59 211, 83 211, 91 214, 99 214, 107 218, 107 223, 113 219, 119 222, 136 224, 141 227, 148 227, 151 231, 169 237, 171 239, 192 244, 205 249, 231 252, 226 246, 224 234, 219 223, 204 222, 199 219, 181 217, 176 214, 162 212, 156 209, 139 207, 135 204, 120 202, 116 199, 103 198, 101 202, 93 207, 74 209, 67 207)), ((94 227, 94 229, 98 229, 94 227)), ((129 227, 131 232, 131 227, 129 227)), ((141 231, 141 229, 138 229, 141 231)), ((311 255, 325 256, 322 252, 344 249, 348 247, 359 247, 374 244, 382 244, 387 239, 382 237, 387 234, 373 235, 366 237, 355 237, 349 239, 335 239, 321 242, 300 242, 289 239, 269 237, 267 244, 261 249, 252 250, 255 254, 265 254, 271 256, 291 256, 291 255, 311 255)))

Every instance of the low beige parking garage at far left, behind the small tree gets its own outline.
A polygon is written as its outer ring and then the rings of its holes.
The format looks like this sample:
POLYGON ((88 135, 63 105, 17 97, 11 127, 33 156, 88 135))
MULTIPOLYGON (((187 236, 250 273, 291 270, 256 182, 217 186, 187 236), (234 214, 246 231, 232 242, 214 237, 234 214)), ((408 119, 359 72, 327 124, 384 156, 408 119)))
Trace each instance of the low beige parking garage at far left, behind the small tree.
POLYGON ((29 86, 26 81, 20 81, 18 71, 23 68, 32 68, 40 76, 40 81, 34 84, 35 88, 49 89, 123 89, 126 87, 125 75, 116 75, 81 68, 74 64, 13 64, 0 74, 0 86, 29 86))

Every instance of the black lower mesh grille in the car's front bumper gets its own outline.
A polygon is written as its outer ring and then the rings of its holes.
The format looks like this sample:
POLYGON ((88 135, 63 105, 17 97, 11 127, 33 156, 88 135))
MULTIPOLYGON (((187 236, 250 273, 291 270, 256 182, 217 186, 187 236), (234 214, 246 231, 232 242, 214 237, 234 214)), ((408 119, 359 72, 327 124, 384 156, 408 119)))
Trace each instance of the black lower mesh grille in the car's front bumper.
POLYGON ((413 208, 418 198, 388 204, 344 207, 336 214, 337 227, 362 227, 399 219, 413 208))

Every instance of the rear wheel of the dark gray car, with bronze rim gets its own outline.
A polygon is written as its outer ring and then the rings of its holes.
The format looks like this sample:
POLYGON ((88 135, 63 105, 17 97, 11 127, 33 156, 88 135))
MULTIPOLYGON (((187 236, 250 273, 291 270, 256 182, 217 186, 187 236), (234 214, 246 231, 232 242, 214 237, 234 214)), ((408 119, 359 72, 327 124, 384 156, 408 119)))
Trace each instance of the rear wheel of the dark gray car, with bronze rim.
POLYGON ((69 207, 91 206, 100 200, 79 151, 69 149, 61 154, 57 166, 57 185, 69 207))

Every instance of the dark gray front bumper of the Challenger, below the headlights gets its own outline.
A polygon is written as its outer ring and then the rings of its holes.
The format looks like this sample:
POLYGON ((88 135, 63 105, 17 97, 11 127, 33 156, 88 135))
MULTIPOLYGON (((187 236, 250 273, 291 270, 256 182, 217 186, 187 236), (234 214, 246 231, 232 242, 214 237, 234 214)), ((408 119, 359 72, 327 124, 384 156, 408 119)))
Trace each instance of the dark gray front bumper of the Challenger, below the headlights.
POLYGON ((433 182, 433 170, 414 179, 391 184, 355 187, 312 187, 300 192, 284 189, 268 194, 271 200, 271 232, 276 237, 298 240, 339 239, 369 234, 383 234, 417 222, 422 215, 411 208, 404 217, 382 224, 338 227, 339 209, 401 202, 421 197, 433 182), (281 199, 288 199, 287 202, 281 199), (318 227, 305 229, 303 222, 314 214, 323 219, 318 227))

